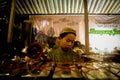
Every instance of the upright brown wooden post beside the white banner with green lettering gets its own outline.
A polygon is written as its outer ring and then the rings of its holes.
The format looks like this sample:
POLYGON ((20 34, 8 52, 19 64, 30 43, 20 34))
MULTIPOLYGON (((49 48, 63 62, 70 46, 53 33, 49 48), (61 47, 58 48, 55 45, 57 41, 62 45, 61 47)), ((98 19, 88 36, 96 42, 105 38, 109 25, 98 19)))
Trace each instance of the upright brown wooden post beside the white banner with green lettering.
POLYGON ((88 5, 87 0, 84 1, 84 20, 85 20, 85 50, 89 53, 89 27, 88 27, 88 5))

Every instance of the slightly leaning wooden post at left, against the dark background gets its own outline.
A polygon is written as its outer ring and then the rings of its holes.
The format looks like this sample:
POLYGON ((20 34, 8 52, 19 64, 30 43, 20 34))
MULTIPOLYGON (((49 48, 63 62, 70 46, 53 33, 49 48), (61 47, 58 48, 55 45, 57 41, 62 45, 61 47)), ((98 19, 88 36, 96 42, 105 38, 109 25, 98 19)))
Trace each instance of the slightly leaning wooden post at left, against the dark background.
POLYGON ((13 25, 14 25, 14 17, 15 17, 15 4, 16 4, 16 0, 12 0, 10 19, 9 19, 9 27, 8 27, 8 36, 7 36, 8 43, 12 42, 13 25))

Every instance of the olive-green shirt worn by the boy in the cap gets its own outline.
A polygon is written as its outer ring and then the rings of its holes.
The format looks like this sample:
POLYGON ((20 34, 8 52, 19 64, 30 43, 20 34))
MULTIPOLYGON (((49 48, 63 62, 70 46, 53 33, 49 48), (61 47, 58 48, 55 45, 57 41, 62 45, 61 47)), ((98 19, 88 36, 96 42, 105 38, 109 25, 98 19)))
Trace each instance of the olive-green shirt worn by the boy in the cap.
POLYGON ((72 49, 68 50, 67 52, 64 52, 61 50, 61 48, 52 49, 48 56, 52 61, 58 61, 58 62, 74 62, 79 61, 81 58, 80 56, 75 53, 72 49))

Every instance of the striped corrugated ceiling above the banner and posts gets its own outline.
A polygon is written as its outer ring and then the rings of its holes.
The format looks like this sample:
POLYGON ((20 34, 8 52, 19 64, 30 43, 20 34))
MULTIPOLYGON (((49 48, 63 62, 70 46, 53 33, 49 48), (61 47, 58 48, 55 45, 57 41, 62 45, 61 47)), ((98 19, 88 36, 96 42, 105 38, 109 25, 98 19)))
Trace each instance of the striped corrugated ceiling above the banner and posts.
MULTIPOLYGON (((0 0, 0 14, 10 0, 0 0)), ((120 0, 87 0, 88 14, 120 14, 120 0)), ((84 0, 16 0, 18 15, 84 14, 84 0)))

